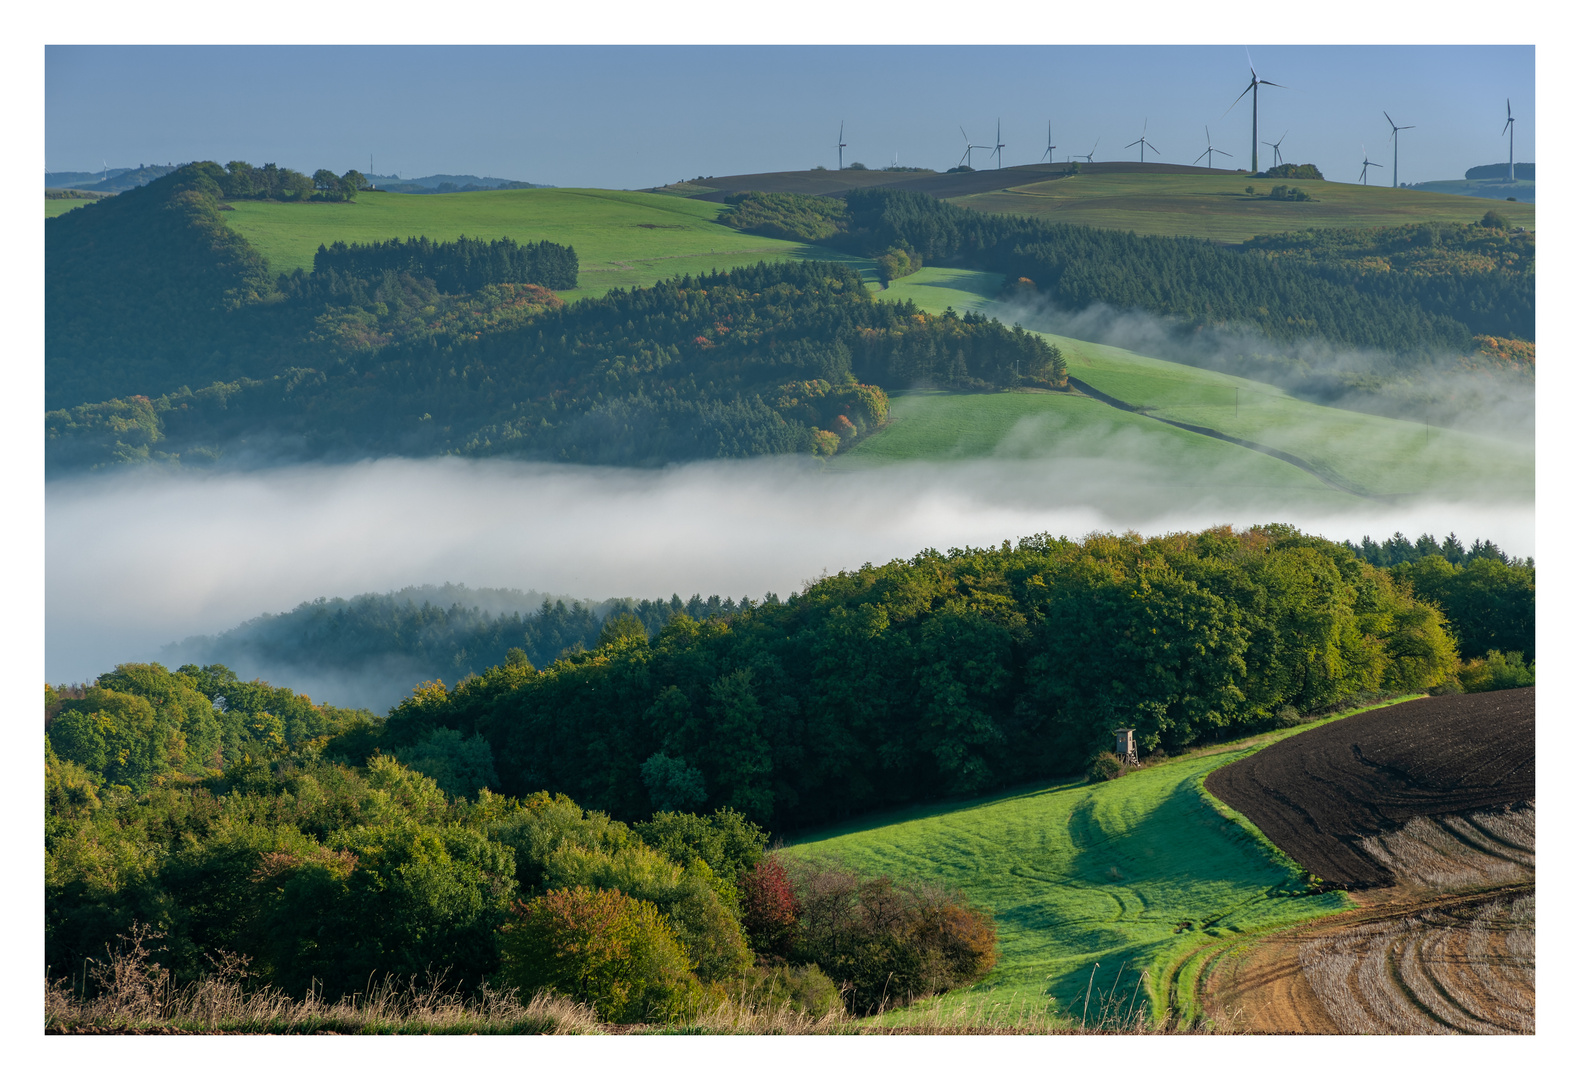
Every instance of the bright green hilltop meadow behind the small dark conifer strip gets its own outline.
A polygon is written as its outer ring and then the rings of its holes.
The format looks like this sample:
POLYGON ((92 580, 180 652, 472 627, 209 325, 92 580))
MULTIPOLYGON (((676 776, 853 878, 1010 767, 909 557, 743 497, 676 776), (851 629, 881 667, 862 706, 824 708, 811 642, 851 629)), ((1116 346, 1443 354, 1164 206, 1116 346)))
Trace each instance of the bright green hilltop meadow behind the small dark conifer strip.
POLYGON ((453 240, 465 234, 569 243, 581 264, 581 284, 561 292, 566 300, 762 259, 836 259, 871 273, 866 259, 720 226, 714 218, 722 208, 637 191, 536 188, 442 196, 379 193, 327 204, 237 201, 224 216, 276 272, 311 270, 318 245, 335 240, 453 240))

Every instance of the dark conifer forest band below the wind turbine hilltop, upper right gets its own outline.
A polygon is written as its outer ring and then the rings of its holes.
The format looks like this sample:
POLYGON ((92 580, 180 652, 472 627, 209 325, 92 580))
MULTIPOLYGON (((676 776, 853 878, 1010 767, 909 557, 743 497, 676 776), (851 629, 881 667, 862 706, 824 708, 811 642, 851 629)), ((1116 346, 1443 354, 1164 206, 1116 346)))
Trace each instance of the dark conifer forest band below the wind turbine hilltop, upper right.
MULTIPOLYGON (((1330 231, 1226 248, 1185 237, 984 215, 888 188, 850 191, 842 208, 834 205, 839 201, 818 196, 743 193, 732 202, 728 219, 754 232, 809 242, 815 237, 872 257, 904 251, 934 265, 980 267, 1008 281, 1025 278, 1066 309, 1104 303, 1171 316, 1187 330, 1247 325, 1286 344, 1324 338, 1401 354, 1454 349, 1465 355, 1476 352, 1476 335, 1536 333, 1534 273, 1525 257, 1529 238, 1503 231, 1394 231, 1424 246, 1408 273, 1390 273, 1359 251, 1334 257, 1330 231), (1520 254, 1493 264, 1457 259, 1469 249, 1480 254, 1485 245, 1520 254)), ((1389 235, 1375 240, 1392 242, 1389 235)))

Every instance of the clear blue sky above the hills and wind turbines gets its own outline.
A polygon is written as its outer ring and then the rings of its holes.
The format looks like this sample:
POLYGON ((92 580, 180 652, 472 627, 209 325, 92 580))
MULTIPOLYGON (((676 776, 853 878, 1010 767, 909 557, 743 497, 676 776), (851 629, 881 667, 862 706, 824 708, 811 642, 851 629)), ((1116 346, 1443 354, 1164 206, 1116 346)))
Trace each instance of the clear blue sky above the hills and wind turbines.
MULTIPOLYGON (((1534 159, 1531 46, 1251 46, 1261 137, 1354 182, 1365 144, 1403 183, 1534 159)), ((645 188, 845 161, 946 169, 964 126, 1005 163, 1068 153, 1163 161, 1213 145, 1250 166, 1245 47, 1228 46, 49 46, 49 171, 242 158, 308 171, 496 175, 645 188), (1147 158, 1153 155, 1149 152, 1147 158)), ((1270 152, 1261 147, 1269 158, 1270 152)), ((973 155, 981 167, 984 156, 973 155)))

